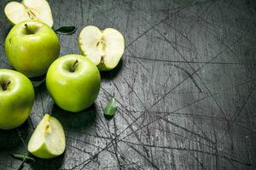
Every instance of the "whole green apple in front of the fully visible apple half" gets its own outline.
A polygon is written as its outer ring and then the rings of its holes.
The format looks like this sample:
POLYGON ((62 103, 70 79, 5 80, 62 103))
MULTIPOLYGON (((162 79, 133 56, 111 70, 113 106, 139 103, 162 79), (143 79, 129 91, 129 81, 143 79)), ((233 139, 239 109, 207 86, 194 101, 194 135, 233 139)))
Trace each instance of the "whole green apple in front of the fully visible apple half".
POLYGON ((92 105, 99 94, 101 76, 96 65, 82 55, 56 59, 46 75, 46 87, 55 104, 78 112, 92 105))

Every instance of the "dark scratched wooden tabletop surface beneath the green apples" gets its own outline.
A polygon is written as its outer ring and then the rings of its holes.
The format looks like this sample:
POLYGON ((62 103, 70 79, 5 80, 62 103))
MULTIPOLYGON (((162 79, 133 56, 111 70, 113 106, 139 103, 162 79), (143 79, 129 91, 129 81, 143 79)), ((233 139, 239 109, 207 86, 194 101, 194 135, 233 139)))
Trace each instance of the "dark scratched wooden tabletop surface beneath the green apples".
MULTIPOLYGON (((0 67, 10 26, 0 2, 0 67)), ((125 37, 114 71, 102 72, 96 104, 77 114, 54 105, 45 84, 35 88, 31 118, 0 131, 0 169, 21 161, 45 113, 65 128, 64 155, 24 169, 256 169, 256 5, 253 0, 49 0, 61 55, 79 54, 84 26, 113 27, 125 37), (115 94, 116 116, 102 107, 115 94)), ((26 95, 26 94, 24 94, 26 95)), ((0 108, 1 110, 1 108, 0 108)))

